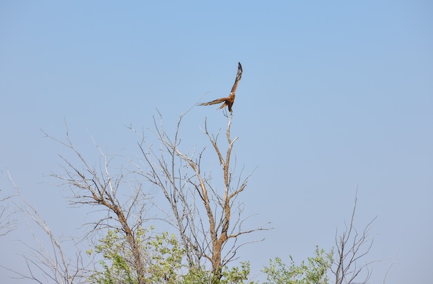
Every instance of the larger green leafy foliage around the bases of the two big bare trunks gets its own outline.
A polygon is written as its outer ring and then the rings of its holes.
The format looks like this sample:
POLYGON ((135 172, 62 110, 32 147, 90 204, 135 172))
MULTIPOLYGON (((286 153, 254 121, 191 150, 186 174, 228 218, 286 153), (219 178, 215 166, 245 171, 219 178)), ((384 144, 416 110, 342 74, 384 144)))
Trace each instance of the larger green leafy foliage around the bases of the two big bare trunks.
MULTIPOLYGON (((205 267, 187 267, 183 263, 185 250, 179 245, 176 236, 167 232, 152 234, 151 230, 138 228, 135 234, 136 240, 140 243, 142 263, 146 265, 147 283, 252 284, 246 282, 250 274, 250 263, 241 263, 240 267, 224 267, 221 279, 217 279, 205 267), (187 273, 183 274, 183 271, 187 273)), ((102 260, 99 262, 102 269, 93 272, 89 277, 90 283, 138 283, 131 263, 131 251, 127 248, 127 242, 119 229, 109 230, 107 236, 101 238, 98 245, 86 253, 102 254, 102 260)))

